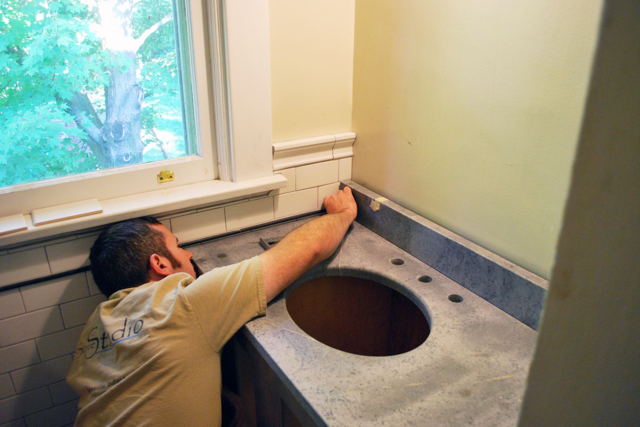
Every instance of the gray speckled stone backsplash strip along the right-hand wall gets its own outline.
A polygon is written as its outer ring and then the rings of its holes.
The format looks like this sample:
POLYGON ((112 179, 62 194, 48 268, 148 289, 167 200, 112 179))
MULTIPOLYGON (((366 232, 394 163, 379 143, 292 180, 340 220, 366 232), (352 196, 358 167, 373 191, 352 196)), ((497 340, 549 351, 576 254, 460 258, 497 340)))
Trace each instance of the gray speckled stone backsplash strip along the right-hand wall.
POLYGON ((440 227, 391 200, 372 211, 373 191, 344 181, 358 204, 356 221, 406 250, 496 307, 536 329, 547 293, 547 280, 440 227))

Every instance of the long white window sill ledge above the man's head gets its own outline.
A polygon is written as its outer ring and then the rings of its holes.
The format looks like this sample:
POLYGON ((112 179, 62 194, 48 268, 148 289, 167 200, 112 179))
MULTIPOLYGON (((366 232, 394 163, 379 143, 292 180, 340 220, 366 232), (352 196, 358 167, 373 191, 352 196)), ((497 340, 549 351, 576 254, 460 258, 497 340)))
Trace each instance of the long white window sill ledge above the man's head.
POLYGON ((283 188, 287 179, 282 175, 250 179, 240 182, 205 181, 185 186, 148 191, 124 197, 100 200, 103 212, 35 227, 31 215, 25 215, 28 229, 0 236, 0 248, 20 245, 36 239, 100 227, 113 222, 180 211, 182 209, 232 202, 241 198, 266 195, 283 188))

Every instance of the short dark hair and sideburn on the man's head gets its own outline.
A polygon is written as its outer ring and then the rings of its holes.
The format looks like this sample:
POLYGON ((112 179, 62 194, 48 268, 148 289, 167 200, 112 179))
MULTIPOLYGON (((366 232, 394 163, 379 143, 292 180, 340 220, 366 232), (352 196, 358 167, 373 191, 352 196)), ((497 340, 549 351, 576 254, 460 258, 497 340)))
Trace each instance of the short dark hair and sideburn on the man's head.
POLYGON ((152 254, 168 258, 174 268, 179 266, 162 232, 151 227, 159 224, 151 216, 118 222, 93 243, 89 255, 93 279, 107 298, 120 289, 147 283, 152 254))

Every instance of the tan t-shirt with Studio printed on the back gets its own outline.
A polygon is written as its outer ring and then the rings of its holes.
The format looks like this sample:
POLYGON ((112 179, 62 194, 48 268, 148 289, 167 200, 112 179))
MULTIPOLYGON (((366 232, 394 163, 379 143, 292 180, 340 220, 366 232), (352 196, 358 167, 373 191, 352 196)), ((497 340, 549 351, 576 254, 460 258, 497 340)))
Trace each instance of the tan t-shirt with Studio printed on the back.
POLYGON ((258 257, 111 295, 67 376, 80 395, 76 426, 219 426, 219 352, 265 312, 258 257))

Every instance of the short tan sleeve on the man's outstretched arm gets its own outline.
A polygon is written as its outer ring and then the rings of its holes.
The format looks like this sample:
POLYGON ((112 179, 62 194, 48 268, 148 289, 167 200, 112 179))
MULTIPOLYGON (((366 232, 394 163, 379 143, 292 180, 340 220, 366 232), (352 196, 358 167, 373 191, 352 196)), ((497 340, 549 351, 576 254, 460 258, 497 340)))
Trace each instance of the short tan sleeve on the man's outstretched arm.
POLYGON ((214 268, 184 288, 205 339, 214 351, 244 323, 265 314, 267 300, 259 257, 214 268))

